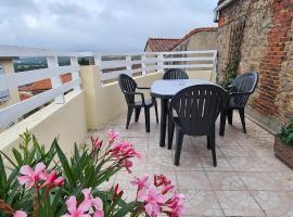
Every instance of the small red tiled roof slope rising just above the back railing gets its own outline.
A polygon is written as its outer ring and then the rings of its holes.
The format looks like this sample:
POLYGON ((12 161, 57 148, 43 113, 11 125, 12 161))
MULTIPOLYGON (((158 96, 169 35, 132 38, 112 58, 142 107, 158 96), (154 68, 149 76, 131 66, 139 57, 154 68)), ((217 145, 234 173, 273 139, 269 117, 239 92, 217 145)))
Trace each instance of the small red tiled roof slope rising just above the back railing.
MULTIPOLYGON (((146 46, 149 44, 153 52, 166 52, 171 51, 171 48, 178 41, 180 41, 180 39, 177 38, 149 38, 146 46)), ((146 46, 144 50, 146 49, 146 46)))

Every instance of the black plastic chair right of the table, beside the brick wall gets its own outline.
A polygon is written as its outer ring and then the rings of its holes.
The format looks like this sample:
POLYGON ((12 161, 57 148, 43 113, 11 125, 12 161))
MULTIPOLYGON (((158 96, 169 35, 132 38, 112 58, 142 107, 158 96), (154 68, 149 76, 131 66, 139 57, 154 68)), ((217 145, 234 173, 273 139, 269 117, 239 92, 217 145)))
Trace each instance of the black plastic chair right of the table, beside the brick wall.
POLYGON ((246 133, 245 126, 245 105, 254 93, 259 75, 256 72, 245 73, 238 76, 233 82, 229 86, 229 101, 227 108, 220 115, 220 131, 219 135, 225 135, 226 117, 228 117, 229 125, 232 125, 233 122, 233 111, 238 110, 243 132, 246 133))

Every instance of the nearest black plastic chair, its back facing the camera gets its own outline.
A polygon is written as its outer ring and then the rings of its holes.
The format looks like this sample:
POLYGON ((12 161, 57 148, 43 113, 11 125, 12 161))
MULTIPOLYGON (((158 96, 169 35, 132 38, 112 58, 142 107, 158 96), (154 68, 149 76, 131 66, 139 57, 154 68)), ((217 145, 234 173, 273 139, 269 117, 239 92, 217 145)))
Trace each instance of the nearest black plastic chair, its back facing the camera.
MULTIPOLYGON (((175 165, 179 165, 183 136, 207 136, 207 149, 212 150, 217 166, 215 123, 227 105, 227 91, 217 85, 198 85, 179 91, 169 106, 170 120, 176 127, 175 165), (173 111, 178 117, 173 116, 173 111)), ((173 140, 174 128, 171 131, 173 140)), ((171 142, 170 142, 171 145, 171 142)))

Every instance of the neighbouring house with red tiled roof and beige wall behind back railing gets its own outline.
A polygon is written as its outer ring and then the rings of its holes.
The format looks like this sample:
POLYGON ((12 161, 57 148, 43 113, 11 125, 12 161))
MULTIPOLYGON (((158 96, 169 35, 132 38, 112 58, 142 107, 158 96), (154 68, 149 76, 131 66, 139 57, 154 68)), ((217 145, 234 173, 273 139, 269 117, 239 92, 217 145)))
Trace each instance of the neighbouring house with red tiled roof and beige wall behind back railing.
POLYGON ((217 50, 217 27, 194 28, 181 39, 149 38, 145 52, 217 50))

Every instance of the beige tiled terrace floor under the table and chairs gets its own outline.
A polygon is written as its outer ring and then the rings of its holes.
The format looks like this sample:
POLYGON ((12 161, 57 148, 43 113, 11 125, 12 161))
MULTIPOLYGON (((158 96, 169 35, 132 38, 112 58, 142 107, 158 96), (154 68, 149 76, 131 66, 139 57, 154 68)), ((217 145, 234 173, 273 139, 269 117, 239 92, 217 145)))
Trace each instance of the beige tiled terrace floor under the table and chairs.
POLYGON ((187 216, 293 216, 293 171, 273 155, 270 133, 246 118, 244 135, 235 113, 226 136, 216 138, 216 168, 205 137, 184 137, 180 166, 176 167, 173 151, 158 145, 160 126, 152 119, 151 133, 145 133, 143 115, 128 130, 126 117, 120 116, 104 130, 92 132, 103 137, 109 129, 118 130, 142 155, 135 161, 132 174, 120 171, 105 188, 119 183, 125 196, 132 200, 136 190, 129 181, 133 176, 164 174, 186 194, 187 216))

